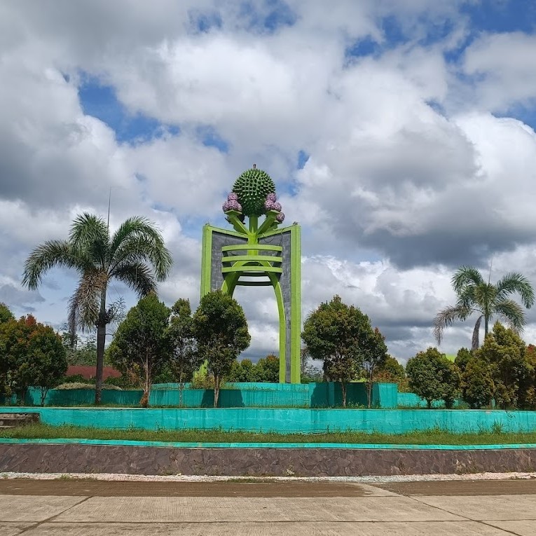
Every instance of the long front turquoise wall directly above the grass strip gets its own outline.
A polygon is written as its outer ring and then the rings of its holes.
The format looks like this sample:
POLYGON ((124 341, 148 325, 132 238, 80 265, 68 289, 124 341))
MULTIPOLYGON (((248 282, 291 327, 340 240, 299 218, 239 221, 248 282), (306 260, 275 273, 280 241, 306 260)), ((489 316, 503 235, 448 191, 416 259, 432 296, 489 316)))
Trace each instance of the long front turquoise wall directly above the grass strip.
POLYGON ((289 434, 383 432, 401 434, 439 428, 449 432, 533 432, 536 411, 385 410, 301 408, 1 408, 37 412, 48 425, 143 430, 243 430, 289 434))

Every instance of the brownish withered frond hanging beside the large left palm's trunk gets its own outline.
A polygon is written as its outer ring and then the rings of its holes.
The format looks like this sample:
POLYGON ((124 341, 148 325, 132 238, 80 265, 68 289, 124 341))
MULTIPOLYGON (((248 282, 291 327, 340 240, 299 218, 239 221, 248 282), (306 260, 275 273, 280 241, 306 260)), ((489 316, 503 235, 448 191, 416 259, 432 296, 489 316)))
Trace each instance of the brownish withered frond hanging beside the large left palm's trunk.
POLYGON ((69 332, 76 334, 76 329, 82 331, 92 329, 99 319, 101 299, 106 292, 108 274, 103 270, 85 270, 78 287, 69 301, 69 332))

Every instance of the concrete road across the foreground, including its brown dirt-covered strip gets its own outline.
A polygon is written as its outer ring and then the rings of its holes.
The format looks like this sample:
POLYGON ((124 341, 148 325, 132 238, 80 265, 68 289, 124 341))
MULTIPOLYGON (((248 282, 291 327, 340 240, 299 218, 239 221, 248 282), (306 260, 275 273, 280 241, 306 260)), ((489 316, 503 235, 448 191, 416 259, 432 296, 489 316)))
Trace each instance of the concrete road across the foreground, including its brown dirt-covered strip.
POLYGON ((536 481, 0 480, 1 536, 534 536, 536 481))

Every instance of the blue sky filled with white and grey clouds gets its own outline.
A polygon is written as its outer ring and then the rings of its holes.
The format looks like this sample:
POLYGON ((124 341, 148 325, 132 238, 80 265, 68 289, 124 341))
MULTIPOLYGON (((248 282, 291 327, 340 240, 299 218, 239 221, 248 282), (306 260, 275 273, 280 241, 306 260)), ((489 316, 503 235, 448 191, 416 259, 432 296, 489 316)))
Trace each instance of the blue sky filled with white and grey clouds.
MULTIPOLYGON (((60 329, 76 274, 20 281, 83 211, 160 228, 159 295, 200 292, 206 222, 253 163, 302 226, 302 316, 339 294, 404 362, 472 265, 536 284, 536 3, 524 0, 4 0, 0 301, 60 329)), ((122 284, 109 300, 135 296, 122 284)), ((277 352, 269 289, 240 288, 277 352)), ((536 342, 536 308, 525 341, 536 342)), ((441 350, 469 346, 474 322, 441 350)))

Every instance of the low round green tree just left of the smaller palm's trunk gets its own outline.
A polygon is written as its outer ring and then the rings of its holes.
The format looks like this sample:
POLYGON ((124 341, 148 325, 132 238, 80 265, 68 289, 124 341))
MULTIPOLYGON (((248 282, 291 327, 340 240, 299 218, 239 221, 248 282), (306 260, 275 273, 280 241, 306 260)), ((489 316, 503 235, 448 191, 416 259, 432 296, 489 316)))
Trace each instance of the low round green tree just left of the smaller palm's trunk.
POLYGON ((418 352, 406 364, 409 387, 432 408, 434 400, 444 400, 452 407, 460 387, 460 372, 437 348, 418 352))

